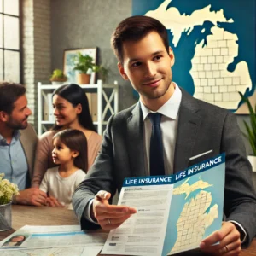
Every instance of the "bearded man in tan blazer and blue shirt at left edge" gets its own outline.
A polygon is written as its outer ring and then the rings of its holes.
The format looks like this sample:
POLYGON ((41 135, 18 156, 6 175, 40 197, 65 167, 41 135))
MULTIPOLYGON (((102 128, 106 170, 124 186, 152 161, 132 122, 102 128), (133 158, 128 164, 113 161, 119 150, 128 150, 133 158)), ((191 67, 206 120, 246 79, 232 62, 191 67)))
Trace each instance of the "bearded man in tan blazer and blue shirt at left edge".
POLYGON ((27 123, 32 112, 27 108, 25 93, 21 84, 0 84, 0 172, 18 185, 20 195, 13 198, 13 203, 40 206, 46 194, 29 188, 38 137, 27 123))

